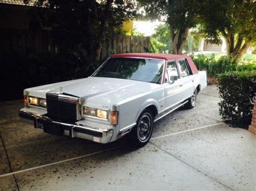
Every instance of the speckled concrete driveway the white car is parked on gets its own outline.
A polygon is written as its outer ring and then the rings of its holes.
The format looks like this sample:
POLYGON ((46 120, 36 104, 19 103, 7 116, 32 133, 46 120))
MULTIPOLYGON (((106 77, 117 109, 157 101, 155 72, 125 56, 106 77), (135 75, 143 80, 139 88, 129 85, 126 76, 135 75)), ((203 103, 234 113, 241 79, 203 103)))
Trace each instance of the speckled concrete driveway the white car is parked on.
POLYGON ((217 88, 196 108, 154 125, 149 144, 127 146, 47 135, 21 123, 22 101, 0 103, 1 190, 253 190, 256 136, 218 114, 217 88))

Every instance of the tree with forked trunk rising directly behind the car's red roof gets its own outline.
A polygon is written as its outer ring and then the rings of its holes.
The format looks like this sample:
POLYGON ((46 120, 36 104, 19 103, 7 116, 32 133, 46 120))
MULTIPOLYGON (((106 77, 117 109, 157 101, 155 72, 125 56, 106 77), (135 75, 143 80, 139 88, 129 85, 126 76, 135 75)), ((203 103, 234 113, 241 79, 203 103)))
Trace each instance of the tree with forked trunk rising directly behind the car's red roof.
POLYGON ((199 22, 198 11, 200 3, 188 0, 139 0, 144 7, 146 17, 154 20, 166 17, 172 41, 172 51, 174 54, 182 54, 189 29, 199 22))

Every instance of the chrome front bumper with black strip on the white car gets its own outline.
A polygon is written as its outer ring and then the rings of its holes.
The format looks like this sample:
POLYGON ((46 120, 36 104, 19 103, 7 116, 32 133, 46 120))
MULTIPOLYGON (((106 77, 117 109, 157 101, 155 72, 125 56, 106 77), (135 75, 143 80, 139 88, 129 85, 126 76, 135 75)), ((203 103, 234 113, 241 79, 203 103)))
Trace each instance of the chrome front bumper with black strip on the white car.
POLYGON ((72 138, 77 137, 98 143, 109 143, 113 137, 112 129, 99 129, 77 125, 75 123, 52 121, 45 115, 35 114, 23 109, 19 110, 19 117, 21 117, 21 121, 33 124, 35 128, 43 129, 45 132, 55 135, 65 135, 72 138), (56 128, 57 130, 52 130, 51 128, 56 128))

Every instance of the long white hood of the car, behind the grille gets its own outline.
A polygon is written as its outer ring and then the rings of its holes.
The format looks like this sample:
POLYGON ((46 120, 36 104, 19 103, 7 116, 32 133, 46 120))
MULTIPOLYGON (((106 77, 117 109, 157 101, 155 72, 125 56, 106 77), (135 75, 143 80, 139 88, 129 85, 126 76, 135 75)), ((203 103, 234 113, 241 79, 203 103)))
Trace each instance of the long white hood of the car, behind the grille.
POLYGON ((25 89, 25 94, 45 98, 49 91, 74 95, 84 100, 113 103, 143 94, 159 84, 109 77, 87 77, 25 89))

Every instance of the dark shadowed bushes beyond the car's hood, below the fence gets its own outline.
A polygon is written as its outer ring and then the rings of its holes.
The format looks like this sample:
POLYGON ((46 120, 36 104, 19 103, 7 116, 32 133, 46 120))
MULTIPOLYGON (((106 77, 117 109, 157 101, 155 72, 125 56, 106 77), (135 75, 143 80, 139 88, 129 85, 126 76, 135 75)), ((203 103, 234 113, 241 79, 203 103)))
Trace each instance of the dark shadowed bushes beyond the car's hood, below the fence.
POLYGON ((89 76, 92 62, 78 53, 36 55, 28 53, 1 53, 1 77, 4 94, 1 100, 23 97, 25 88, 89 76))

